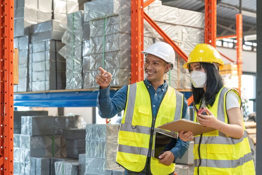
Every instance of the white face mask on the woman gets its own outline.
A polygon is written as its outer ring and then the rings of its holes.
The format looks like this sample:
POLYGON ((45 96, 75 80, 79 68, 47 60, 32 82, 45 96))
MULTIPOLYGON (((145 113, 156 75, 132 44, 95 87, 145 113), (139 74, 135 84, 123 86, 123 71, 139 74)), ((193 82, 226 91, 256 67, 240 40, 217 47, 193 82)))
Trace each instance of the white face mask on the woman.
POLYGON ((207 73, 203 71, 193 70, 190 73, 190 79, 194 87, 203 88, 207 81, 207 73))

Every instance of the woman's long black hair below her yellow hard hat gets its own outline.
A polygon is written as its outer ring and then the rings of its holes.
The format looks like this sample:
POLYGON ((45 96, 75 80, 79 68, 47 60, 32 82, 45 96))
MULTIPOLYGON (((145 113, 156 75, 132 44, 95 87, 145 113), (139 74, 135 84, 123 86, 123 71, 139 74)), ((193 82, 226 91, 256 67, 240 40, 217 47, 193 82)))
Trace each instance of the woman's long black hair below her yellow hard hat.
POLYGON ((206 101, 206 105, 213 106, 216 95, 224 85, 224 81, 219 74, 213 63, 200 62, 200 66, 207 72, 207 82, 206 82, 206 92, 204 88, 195 88, 192 84, 192 93, 194 96, 194 102, 196 104, 200 103, 202 97, 206 101))

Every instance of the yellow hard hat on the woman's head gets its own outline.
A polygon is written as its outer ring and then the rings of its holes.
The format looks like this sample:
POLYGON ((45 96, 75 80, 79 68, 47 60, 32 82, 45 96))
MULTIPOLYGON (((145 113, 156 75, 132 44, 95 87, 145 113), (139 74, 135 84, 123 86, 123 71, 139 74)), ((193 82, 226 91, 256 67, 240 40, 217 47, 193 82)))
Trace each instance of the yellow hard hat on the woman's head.
POLYGON ((221 59, 221 55, 218 50, 212 45, 201 43, 197 44, 188 56, 188 62, 183 65, 184 68, 188 68, 188 65, 192 62, 210 62, 218 63, 219 68, 224 66, 224 62, 221 59))

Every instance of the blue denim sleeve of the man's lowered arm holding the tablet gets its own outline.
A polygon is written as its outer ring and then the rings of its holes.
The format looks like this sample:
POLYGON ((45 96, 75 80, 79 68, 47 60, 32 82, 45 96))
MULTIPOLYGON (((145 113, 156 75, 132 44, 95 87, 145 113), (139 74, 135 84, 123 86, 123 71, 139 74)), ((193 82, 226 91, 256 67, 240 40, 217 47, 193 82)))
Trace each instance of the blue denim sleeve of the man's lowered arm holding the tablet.
MULTIPOLYGON (((182 118, 189 119, 188 115, 188 102, 186 98, 184 98, 184 105, 182 110, 182 118)), ((175 160, 177 158, 181 158, 185 152, 188 150, 189 141, 183 141, 179 137, 177 138, 177 143, 175 147, 173 147, 170 151, 175 155, 175 160)), ((174 160, 174 162, 175 162, 174 160)))

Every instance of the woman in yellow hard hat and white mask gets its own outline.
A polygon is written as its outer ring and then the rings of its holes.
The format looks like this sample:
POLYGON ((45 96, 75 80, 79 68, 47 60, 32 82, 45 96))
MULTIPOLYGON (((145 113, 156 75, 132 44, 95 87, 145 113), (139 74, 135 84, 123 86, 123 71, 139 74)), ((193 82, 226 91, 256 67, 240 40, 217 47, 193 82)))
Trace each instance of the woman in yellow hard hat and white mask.
POLYGON ((196 114, 195 121, 217 130, 193 136, 179 132, 184 141, 194 140, 194 174, 255 174, 252 153, 240 111, 238 91, 224 87, 219 67, 224 62, 209 44, 197 44, 184 68, 189 69, 197 108, 209 115, 196 114))

